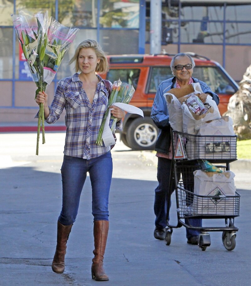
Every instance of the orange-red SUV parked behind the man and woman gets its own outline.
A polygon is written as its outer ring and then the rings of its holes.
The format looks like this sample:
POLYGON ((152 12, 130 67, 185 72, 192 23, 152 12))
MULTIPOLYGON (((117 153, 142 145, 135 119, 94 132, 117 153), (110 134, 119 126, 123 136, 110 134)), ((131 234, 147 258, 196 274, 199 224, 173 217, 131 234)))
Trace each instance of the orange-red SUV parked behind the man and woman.
MULTIPOLYGON (((219 95, 220 113, 227 111, 229 98, 238 90, 238 84, 222 66, 206 57, 188 53, 195 60, 193 77, 198 78, 219 95)), ((144 119, 138 115, 126 114, 120 136, 123 143, 134 150, 153 150, 158 136, 158 128, 150 115, 158 85, 173 77, 170 63, 171 54, 158 55, 111 55, 108 56, 110 69, 102 74, 111 82, 119 79, 133 84, 135 94, 130 102, 144 112, 144 119)))

